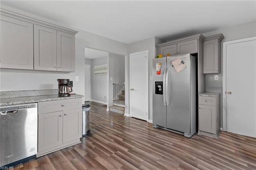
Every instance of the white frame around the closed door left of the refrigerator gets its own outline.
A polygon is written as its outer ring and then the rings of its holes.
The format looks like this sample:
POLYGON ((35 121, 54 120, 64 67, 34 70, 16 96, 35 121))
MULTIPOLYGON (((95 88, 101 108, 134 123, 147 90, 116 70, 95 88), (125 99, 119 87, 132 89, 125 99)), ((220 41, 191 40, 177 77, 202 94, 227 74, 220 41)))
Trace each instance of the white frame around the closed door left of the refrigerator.
MULTIPOLYGON (((131 55, 136 55, 136 54, 141 54, 141 53, 146 53, 146 55, 147 55, 147 61, 146 61, 146 112, 147 112, 147 115, 146 115, 146 121, 148 122, 148 120, 149 120, 149 91, 148 91, 148 89, 149 89, 149 82, 148 82, 148 58, 149 58, 149 56, 148 56, 148 49, 147 50, 144 50, 144 51, 139 51, 139 52, 136 52, 136 53, 130 53, 130 55, 129 55, 129 86, 131 87, 131 83, 132 83, 132 79, 131 79, 131 55)), ((130 98, 130 106, 129 106, 129 117, 132 117, 132 113, 131 113, 131 111, 132 111, 132 98, 131 98, 131 91, 130 91, 130 89, 129 89, 129 98, 130 98)))

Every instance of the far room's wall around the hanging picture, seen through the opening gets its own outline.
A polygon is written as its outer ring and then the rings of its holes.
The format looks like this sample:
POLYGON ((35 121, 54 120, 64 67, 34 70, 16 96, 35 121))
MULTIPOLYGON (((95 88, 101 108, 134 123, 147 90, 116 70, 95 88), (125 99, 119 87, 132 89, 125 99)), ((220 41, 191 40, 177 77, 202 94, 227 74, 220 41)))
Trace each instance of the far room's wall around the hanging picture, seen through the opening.
POLYGON ((91 89, 92 101, 107 103, 107 74, 94 75, 94 66, 107 64, 108 56, 92 59, 91 65, 91 89), (104 96, 106 98, 104 98, 104 96))

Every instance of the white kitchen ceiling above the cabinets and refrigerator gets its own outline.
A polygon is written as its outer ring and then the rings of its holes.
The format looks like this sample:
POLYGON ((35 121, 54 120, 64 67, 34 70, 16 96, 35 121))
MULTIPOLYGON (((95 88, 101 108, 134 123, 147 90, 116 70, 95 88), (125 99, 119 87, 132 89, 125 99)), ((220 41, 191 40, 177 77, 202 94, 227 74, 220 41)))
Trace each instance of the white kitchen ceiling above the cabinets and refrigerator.
POLYGON ((123 43, 210 32, 256 20, 256 1, 4 1, 17 8, 123 43))

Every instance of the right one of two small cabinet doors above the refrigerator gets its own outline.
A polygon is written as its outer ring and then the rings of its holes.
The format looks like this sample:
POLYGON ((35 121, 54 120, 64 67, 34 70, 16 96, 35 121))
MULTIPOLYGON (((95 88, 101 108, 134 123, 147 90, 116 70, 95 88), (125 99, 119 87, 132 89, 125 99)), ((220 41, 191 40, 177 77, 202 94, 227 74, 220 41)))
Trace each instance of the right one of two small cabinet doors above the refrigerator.
POLYGON ((177 44, 177 54, 197 53, 198 39, 181 42, 177 44))

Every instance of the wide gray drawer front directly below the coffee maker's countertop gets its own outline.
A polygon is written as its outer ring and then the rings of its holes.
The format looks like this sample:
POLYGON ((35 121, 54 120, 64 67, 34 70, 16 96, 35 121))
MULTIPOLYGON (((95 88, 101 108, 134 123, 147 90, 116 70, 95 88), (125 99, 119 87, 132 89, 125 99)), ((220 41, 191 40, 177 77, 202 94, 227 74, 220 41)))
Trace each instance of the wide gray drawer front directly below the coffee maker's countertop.
POLYGON ((38 102, 38 114, 63 111, 67 109, 82 109, 82 99, 64 99, 57 101, 38 102))

